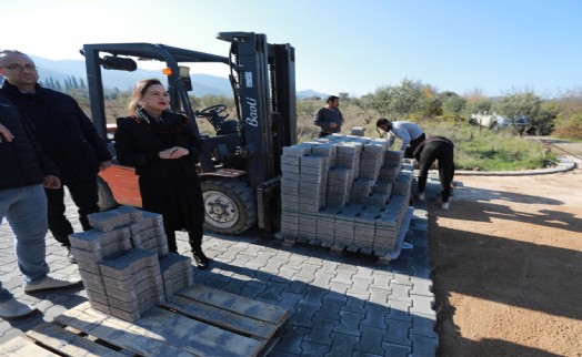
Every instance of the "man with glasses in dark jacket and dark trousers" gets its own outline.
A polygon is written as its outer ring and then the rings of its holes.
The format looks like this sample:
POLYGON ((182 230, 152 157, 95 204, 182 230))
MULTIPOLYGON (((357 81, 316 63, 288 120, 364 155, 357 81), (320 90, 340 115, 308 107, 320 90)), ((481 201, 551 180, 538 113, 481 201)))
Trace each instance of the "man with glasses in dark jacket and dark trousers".
MULTIPOLYGON (((99 211, 97 174, 111 165, 104 142, 72 96, 37 83, 37 67, 27 54, 0 52, 0 74, 4 76, 0 93, 31 122, 36 140, 59 167, 62 184, 79 208, 83 230, 90 230, 87 215, 99 211)), ((69 249, 70 261, 74 263, 69 243, 73 228, 64 215, 64 190, 46 190, 46 194, 49 230, 69 249)))

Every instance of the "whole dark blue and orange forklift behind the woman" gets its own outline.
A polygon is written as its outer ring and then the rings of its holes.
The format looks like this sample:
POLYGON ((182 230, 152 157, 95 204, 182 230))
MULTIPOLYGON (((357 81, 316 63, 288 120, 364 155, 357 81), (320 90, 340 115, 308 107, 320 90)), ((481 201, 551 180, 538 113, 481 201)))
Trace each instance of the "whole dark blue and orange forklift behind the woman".
MULTIPOLYGON (((153 43, 84 44, 81 53, 93 124, 114 157, 114 125, 106 118, 102 70, 136 71, 139 61, 161 62, 171 110, 192 119, 203 143, 197 169, 204 198, 204 228, 238 235, 258 224, 274 232, 281 213, 281 154, 284 146, 297 143, 294 49, 288 43, 268 43, 265 34, 254 32, 220 32, 217 38, 230 42, 228 57, 153 43), (192 108, 189 91, 193 83, 190 68, 184 65, 191 63, 228 67, 237 119, 227 118, 225 104, 198 111, 192 108), (201 134, 194 118, 208 120, 214 133, 201 134)), ((101 175, 109 178, 101 180, 100 196, 114 204, 139 205, 139 197, 126 200, 127 192, 139 195, 132 167, 113 162, 113 167, 103 172, 107 175, 101 175), (119 178, 123 173, 134 176, 129 180, 134 185, 131 190, 120 185, 127 183, 119 178)))

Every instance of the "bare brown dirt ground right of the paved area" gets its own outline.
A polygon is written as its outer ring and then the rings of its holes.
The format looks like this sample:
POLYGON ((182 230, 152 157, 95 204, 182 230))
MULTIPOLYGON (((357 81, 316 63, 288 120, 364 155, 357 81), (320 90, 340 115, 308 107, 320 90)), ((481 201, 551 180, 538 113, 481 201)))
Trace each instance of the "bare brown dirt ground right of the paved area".
POLYGON ((455 185, 429 203, 439 356, 582 356, 580 163, 455 185))

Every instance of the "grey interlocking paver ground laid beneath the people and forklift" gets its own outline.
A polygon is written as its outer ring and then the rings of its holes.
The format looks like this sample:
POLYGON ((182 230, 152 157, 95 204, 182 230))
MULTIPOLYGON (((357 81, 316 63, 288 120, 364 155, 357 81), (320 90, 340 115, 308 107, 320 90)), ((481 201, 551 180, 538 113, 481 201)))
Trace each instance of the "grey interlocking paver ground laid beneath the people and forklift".
MULTIPOLYGON (((67 214, 80 231, 77 210, 67 200, 67 214)), ((259 232, 237 237, 205 235, 203 247, 213 262, 209 271, 194 268, 194 284, 289 308, 291 318, 272 356, 434 356, 439 339, 431 309, 427 205, 415 205, 413 230, 407 235, 407 242, 414 244, 389 264, 308 244, 289 246, 259 232)), ((12 241, 4 221, 0 225, 2 284, 41 314, 20 322, 0 320, 0 350, 3 341, 87 300, 82 287, 23 294, 12 241)), ((189 255, 188 246, 187 234, 179 232, 180 253, 189 255)), ((66 249, 50 234, 47 262, 59 277, 80 277, 77 265, 68 262, 66 249)))

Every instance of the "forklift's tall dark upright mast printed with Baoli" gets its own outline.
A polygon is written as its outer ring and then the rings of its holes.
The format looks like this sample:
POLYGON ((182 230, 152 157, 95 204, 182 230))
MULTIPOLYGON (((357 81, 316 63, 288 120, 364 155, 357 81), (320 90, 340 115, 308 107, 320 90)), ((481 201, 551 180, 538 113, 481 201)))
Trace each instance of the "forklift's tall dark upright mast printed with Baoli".
POLYGON ((281 173, 282 147, 297 142, 294 49, 270 44, 253 32, 221 32, 231 42, 231 81, 241 119, 241 152, 247 159, 249 184, 281 173))

